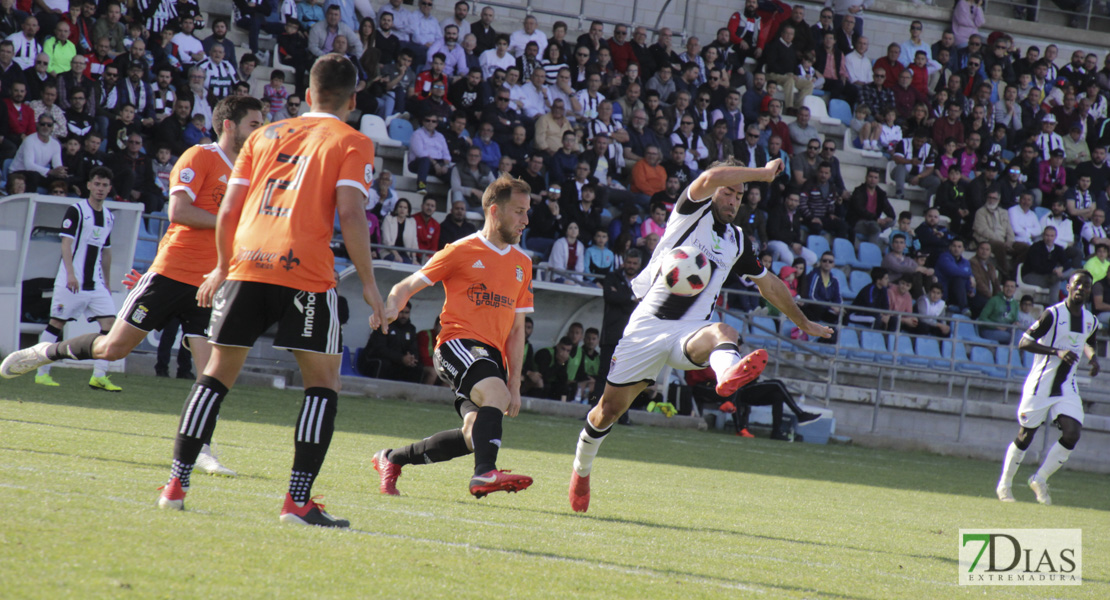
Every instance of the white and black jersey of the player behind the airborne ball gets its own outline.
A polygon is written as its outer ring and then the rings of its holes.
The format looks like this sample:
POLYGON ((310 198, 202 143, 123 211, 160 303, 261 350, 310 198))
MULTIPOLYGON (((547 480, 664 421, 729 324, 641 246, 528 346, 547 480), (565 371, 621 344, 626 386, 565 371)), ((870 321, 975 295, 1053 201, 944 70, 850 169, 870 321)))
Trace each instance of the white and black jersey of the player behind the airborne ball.
POLYGON ((647 268, 632 282, 633 294, 642 302, 633 311, 630 322, 648 317, 664 321, 709 318, 720 287, 734 268, 737 275, 748 278, 757 279, 767 274, 739 227, 718 223, 713 215, 713 200, 692 200, 687 187, 667 218, 667 228, 647 268), (672 294, 659 276, 664 257, 678 246, 697 247, 709 258, 713 274, 708 285, 696 296, 672 294))

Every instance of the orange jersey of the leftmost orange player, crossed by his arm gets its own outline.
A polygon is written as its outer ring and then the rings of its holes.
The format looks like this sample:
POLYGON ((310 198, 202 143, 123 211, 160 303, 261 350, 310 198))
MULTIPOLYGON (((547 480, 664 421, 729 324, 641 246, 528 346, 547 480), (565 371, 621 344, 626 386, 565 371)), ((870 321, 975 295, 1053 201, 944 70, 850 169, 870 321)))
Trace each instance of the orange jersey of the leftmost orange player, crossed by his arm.
MULTIPOLYGON (((231 161, 215 144, 186 150, 170 172, 170 194, 184 192, 193 206, 212 214, 220 211, 231 177, 231 161)), ((171 223, 158 245, 150 270, 171 279, 200 286, 215 268, 215 230, 171 223)))

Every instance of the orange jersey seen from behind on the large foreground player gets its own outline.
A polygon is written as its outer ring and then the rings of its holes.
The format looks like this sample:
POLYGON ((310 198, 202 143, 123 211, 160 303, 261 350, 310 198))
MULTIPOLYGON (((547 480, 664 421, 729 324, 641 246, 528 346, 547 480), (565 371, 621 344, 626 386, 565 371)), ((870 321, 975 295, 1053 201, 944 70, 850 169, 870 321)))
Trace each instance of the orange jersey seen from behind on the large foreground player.
POLYGON ((335 287, 335 190, 365 195, 373 180, 374 144, 334 115, 306 113, 252 133, 231 175, 249 190, 228 278, 335 287))

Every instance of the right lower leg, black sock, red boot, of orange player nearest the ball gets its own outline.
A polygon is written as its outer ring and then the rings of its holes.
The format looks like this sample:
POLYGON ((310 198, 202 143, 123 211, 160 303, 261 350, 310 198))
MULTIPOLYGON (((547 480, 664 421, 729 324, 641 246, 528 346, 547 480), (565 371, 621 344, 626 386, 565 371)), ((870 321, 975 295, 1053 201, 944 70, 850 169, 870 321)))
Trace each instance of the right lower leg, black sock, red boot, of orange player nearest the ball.
POLYGON ((471 495, 484 498, 494 491, 521 491, 532 485, 532 478, 508 469, 497 469, 501 449, 501 426, 508 408, 508 387, 498 377, 486 377, 471 389, 471 400, 480 408, 474 414, 471 443, 474 447, 474 476, 471 495))

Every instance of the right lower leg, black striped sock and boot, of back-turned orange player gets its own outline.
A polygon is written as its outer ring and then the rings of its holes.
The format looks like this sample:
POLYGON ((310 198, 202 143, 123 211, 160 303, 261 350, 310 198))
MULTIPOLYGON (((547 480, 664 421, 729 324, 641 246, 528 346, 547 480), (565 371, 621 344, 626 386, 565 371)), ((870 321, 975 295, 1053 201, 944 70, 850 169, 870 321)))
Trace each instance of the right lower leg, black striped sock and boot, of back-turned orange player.
POLYGON ((319 527, 350 527, 351 521, 332 517, 312 499, 312 484, 316 480, 327 447, 335 433, 335 411, 340 395, 326 387, 304 390, 301 418, 294 433, 293 470, 289 478, 289 494, 281 510, 281 521, 319 527))

